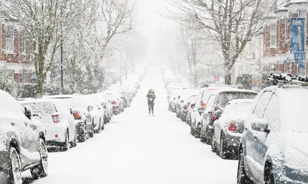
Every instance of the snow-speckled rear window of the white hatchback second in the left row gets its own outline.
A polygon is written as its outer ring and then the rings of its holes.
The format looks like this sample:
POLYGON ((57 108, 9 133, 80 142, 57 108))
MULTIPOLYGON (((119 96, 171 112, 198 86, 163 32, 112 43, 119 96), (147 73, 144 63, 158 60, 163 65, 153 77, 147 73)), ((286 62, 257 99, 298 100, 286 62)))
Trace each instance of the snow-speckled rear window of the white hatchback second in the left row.
POLYGON ((23 106, 29 105, 34 113, 42 115, 56 113, 55 105, 52 102, 34 102, 22 104, 23 106))

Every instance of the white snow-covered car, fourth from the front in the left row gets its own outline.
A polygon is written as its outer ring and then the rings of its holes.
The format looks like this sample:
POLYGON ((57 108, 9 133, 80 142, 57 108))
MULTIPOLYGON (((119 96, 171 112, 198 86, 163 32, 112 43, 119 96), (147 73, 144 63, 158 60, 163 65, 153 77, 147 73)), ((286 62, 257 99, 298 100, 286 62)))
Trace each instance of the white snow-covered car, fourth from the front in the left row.
MULTIPOLYGON (((92 117, 93 133, 100 133, 104 129, 104 111, 102 105, 99 103, 99 99, 91 94, 81 95, 80 97, 86 103, 92 117)), ((93 133, 90 133, 89 136, 93 137, 93 133)))

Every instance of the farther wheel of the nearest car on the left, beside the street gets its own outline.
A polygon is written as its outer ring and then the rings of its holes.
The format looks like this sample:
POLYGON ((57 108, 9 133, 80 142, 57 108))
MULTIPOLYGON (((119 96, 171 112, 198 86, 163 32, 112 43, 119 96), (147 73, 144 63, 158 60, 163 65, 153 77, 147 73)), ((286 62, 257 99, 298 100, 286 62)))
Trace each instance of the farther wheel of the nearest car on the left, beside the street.
POLYGON ((41 162, 30 168, 31 175, 34 179, 44 178, 48 175, 47 147, 43 139, 40 139, 39 154, 41 162))

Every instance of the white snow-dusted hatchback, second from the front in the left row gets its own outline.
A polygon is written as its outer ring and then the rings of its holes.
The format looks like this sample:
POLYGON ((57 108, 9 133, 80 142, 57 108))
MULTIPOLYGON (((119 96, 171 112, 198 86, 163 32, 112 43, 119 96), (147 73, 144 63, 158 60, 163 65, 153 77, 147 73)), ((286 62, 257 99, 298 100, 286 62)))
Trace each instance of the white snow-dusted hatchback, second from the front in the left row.
POLYGON ((77 125, 73 111, 60 99, 37 99, 20 101, 30 106, 36 118, 44 125, 48 148, 59 147, 67 151, 77 145, 77 125))

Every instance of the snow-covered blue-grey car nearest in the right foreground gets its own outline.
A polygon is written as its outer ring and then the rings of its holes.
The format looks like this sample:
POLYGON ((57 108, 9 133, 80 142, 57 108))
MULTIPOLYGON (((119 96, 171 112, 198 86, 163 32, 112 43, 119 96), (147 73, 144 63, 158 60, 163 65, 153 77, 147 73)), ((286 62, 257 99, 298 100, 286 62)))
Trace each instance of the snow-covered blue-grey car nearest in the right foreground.
POLYGON ((240 139, 237 183, 307 183, 307 94, 296 85, 258 94, 240 139))

